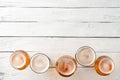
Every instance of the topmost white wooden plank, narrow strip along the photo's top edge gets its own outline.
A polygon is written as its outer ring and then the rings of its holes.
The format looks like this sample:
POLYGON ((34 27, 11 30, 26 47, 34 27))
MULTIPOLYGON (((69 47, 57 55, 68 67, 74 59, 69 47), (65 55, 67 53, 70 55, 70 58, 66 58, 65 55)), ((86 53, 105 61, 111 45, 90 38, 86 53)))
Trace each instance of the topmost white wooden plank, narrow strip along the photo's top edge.
POLYGON ((0 0, 0 5, 15 7, 120 7, 120 0, 0 0))

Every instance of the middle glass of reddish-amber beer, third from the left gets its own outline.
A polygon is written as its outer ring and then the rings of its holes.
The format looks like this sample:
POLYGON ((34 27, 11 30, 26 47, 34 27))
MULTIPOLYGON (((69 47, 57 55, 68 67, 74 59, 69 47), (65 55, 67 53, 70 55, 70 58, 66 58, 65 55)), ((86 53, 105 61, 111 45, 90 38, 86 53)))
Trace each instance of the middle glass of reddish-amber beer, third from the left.
POLYGON ((76 71, 77 64, 73 57, 65 55, 61 56, 56 62, 57 72, 64 77, 73 75, 76 71))

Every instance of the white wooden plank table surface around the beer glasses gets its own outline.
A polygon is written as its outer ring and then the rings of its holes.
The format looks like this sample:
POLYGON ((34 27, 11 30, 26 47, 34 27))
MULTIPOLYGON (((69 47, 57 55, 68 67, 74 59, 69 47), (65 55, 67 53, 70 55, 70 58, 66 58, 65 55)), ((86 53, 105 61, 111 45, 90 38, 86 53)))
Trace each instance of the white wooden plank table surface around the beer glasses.
POLYGON ((120 0, 0 0, 0 72, 4 80, 120 80, 120 0), (114 72, 105 77, 78 65, 73 76, 61 77, 55 61, 74 57, 81 46, 110 56, 114 72), (13 69, 9 57, 19 49, 45 53, 51 68, 44 74, 13 69))

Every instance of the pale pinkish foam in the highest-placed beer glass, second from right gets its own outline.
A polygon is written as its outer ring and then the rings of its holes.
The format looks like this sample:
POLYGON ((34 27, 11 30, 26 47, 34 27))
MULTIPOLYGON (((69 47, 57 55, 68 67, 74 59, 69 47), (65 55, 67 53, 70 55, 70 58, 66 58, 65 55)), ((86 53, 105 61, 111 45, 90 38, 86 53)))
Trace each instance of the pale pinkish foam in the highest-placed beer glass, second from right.
POLYGON ((76 53, 76 59, 79 64, 89 66, 95 61, 95 51, 90 47, 81 47, 76 53))

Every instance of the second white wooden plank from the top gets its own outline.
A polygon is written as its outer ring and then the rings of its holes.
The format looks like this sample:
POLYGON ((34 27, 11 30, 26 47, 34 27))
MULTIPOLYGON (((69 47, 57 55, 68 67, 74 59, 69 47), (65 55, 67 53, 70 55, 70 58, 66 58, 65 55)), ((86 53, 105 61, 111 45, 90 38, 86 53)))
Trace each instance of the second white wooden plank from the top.
POLYGON ((120 9, 0 8, 1 22, 119 23, 120 9))

